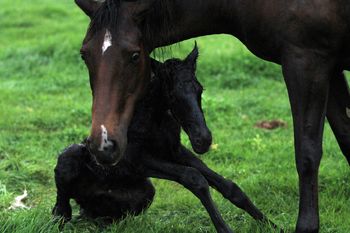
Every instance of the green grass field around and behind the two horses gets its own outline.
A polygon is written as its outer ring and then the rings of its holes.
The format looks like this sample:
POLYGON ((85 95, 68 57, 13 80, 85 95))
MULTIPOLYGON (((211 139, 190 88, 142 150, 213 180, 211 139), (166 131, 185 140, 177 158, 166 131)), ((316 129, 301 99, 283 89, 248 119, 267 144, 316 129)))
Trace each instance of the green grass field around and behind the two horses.
MULTIPOLYGON (((89 133, 91 93, 79 48, 88 18, 73 0, 0 0, 0 232, 59 232, 51 221, 57 154, 89 133), (8 210, 27 189, 30 210, 8 210)), ((229 36, 197 39, 198 78, 216 148, 202 156, 234 180, 274 222, 294 229, 298 210, 290 107, 280 68, 251 55, 229 36), (286 128, 265 131, 259 120, 286 128)), ((193 41, 172 48, 184 57, 193 41)), ((184 136, 184 143, 188 144, 184 136)), ((214 232, 200 202, 180 185, 153 180, 151 208, 139 217, 103 226, 74 219, 63 232, 214 232)), ((350 232, 350 174, 329 126, 320 169, 321 232, 350 232)), ((273 232, 214 199, 237 232, 273 232)), ((73 204, 73 203, 72 203, 73 204)), ((76 209, 76 208, 75 208, 76 209)))

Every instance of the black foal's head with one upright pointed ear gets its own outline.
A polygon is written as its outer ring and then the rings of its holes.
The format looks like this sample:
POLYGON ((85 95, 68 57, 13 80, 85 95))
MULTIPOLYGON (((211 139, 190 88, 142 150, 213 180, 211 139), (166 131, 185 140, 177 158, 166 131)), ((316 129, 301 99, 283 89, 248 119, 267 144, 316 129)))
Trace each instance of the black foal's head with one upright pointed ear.
POLYGON ((165 95, 172 114, 190 138, 196 153, 209 150, 212 142, 203 110, 203 87, 196 78, 197 45, 183 61, 170 59, 164 63, 165 95))

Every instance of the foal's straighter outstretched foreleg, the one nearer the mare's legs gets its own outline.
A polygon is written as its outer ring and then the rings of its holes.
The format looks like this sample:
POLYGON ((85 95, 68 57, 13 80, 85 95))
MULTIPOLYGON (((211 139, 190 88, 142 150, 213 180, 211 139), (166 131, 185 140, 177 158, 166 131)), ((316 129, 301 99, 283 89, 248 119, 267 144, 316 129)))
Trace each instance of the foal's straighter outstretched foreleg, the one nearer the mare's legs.
POLYGON ((181 155, 179 155, 179 162, 185 166, 197 169, 209 185, 219 191, 226 199, 231 201, 235 206, 246 211, 250 216, 259 221, 264 221, 276 227, 268 218, 261 213, 261 211, 250 201, 248 196, 240 189, 240 187, 231 180, 225 179, 213 170, 211 170, 205 163, 198 159, 191 151, 185 147, 181 147, 181 155))

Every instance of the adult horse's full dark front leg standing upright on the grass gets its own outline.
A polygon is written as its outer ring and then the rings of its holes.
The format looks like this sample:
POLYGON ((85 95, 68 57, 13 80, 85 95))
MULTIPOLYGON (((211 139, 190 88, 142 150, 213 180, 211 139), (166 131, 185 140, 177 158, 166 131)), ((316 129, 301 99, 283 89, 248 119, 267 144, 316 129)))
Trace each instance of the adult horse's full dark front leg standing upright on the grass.
POLYGON ((282 59, 294 122, 296 166, 299 175, 299 216, 296 231, 318 232, 318 169, 333 61, 288 47, 282 59))

